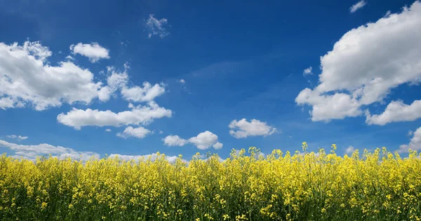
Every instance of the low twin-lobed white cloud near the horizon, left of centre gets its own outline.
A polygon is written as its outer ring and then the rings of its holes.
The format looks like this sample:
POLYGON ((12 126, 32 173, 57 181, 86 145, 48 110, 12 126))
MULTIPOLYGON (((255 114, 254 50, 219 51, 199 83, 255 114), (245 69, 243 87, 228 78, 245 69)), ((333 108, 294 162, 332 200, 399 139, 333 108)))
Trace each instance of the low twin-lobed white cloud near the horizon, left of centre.
POLYGON ((218 136, 216 136, 210 131, 204 131, 203 133, 200 133, 197 136, 193 136, 188 140, 180 138, 180 136, 177 135, 166 136, 166 138, 163 138, 164 145, 183 146, 187 143, 192 143, 196 145, 196 147, 200 150, 207 150, 210 147, 220 149, 223 146, 222 143, 218 142, 218 136))

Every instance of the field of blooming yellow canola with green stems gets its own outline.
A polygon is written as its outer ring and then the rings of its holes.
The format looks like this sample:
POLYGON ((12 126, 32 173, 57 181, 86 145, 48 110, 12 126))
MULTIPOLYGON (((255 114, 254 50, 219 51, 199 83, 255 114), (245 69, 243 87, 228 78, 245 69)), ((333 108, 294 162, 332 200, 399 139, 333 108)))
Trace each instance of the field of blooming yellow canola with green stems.
POLYGON ((335 148, 174 164, 2 155, 0 220, 420 220, 417 152, 335 148))

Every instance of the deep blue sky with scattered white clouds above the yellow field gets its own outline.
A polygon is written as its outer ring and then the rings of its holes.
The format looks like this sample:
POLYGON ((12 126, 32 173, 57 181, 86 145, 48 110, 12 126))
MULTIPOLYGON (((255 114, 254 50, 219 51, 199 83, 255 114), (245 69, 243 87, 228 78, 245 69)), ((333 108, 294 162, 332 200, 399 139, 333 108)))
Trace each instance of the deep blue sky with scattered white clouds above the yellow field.
POLYGON ((405 0, 0 1, 1 152, 419 150, 420 25, 405 0))

